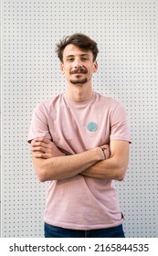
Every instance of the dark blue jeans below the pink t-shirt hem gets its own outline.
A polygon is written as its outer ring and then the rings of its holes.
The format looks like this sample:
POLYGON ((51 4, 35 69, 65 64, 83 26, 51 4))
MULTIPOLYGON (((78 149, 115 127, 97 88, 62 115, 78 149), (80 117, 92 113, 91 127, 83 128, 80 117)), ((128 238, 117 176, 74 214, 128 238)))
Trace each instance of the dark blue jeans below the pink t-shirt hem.
POLYGON ((122 225, 108 229, 63 229, 45 223, 45 238, 124 238, 122 225))

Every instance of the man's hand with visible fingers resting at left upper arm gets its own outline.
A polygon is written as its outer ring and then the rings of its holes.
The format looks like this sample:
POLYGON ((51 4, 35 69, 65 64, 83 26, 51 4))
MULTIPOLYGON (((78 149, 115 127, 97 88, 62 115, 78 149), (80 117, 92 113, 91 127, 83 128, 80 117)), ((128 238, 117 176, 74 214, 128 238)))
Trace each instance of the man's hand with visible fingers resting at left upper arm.
POLYGON ((32 140, 31 151, 34 157, 44 159, 65 155, 59 151, 56 144, 46 138, 36 138, 32 140))

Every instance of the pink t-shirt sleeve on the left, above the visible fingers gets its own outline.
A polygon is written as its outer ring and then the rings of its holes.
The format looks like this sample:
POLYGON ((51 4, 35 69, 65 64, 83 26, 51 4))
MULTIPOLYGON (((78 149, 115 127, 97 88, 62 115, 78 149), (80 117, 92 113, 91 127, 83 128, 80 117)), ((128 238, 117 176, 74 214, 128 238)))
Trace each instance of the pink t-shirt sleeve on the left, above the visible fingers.
POLYGON ((51 140, 47 123, 47 113, 42 104, 38 104, 33 112, 27 142, 30 143, 33 139, 39 137, 51 140))

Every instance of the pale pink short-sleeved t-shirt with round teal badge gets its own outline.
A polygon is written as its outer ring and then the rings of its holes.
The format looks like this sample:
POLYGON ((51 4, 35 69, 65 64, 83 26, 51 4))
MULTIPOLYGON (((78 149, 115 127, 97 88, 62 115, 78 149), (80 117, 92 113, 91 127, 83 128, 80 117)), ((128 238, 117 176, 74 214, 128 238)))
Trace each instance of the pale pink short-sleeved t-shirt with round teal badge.
MULTIPOLYGON (((111 140, 131 142, 122 103, 97 92, 86 102, 70 101, 63 93, 38 104, 28 142, 36 137, 46 137, 70 154, 110 144, 111 140)), ((44 220, 66 229, 120 225, 123 217, 114 180, 78 175, 50 181, 44 220)))

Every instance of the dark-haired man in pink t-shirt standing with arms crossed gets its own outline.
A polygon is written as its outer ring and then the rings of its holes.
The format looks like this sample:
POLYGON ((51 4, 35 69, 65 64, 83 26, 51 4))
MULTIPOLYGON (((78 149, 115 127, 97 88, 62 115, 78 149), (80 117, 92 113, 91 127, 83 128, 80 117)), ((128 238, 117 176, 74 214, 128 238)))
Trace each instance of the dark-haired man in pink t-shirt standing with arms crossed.
POLYGON ((28 136, 37 177, 50 181, 45 237, 124 237, 114 180, 124 178, 129 162, 126 112, 92 90, 95 41, 74 34, 57 52, 66 91, 37 105, 28 136))

